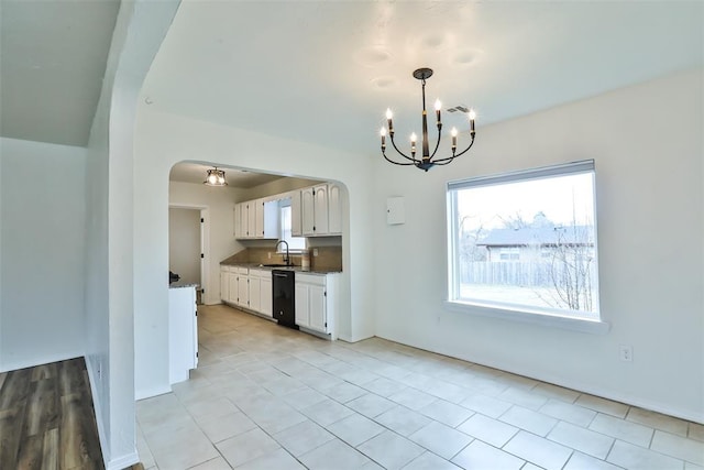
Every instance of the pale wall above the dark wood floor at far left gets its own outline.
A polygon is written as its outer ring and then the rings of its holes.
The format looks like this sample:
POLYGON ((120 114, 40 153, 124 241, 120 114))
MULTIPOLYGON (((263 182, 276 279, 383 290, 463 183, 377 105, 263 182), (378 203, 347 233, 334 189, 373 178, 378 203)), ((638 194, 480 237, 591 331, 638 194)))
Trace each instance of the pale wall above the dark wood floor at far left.
POLYGON ((86 150, 0 139, 0 371, 84 356, 86 150))

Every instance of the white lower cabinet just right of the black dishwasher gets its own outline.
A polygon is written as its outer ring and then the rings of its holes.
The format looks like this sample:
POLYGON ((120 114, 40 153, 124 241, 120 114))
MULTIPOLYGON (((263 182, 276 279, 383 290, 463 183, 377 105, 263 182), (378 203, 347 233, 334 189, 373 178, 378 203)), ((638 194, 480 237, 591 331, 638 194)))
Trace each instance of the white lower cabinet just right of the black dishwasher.
POLYGON ((337 274, 296 273, 296 325, 337 339, 337 274))

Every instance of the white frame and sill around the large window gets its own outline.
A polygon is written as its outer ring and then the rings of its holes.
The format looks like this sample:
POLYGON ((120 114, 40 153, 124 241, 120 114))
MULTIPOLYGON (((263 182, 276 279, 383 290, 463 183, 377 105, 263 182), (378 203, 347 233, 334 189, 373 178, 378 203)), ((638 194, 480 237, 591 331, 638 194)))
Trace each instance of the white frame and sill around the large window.
POLYGON ((460 256, 458 254, 459 243, 459 218, 457 217, 458 192, 461 189, 494 186, 506 183, 528 182, 557 176, 569 176, 575 174, 592 174, 592 200, 594 204, 594 253, 597 258, 597 215, 596 215, 596 170, 593 160, 571 162, 538 168, 521 170, 502 174, 485 175, 472 178, 448 182, 446 185, 447 195, 447 254, 448 254, 448 276, 447 276, 447 299, 446 308, 450 311, 460 311, 484 317, 516 320, 520 323, 552 326, 570 330, 585 332, 605 334, 610 329, 610 325, 604 320, 598 298, 598 269, 594 280, 597 292, 597 307, 594 316, 580 316, 578 310, 563 310, 548 307, 532 307, 524 304, 504 304, 498 300, 465 299, 460 296, 460 256))

